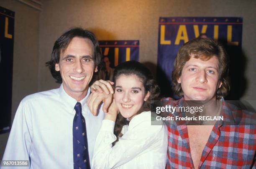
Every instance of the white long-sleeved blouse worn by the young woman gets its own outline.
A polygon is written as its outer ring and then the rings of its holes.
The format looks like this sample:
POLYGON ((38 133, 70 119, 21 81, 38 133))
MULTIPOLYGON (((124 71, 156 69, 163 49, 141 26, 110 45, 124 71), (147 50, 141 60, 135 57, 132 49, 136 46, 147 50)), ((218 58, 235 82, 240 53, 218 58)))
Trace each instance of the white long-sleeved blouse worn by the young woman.
POLYGON ((103 120, 97 136, 93 169, 165 169, 167 157, 167 129, 151 125, 151 112, 142 112, 122 129, 123 136, 116 140, 115 122, 103 120))

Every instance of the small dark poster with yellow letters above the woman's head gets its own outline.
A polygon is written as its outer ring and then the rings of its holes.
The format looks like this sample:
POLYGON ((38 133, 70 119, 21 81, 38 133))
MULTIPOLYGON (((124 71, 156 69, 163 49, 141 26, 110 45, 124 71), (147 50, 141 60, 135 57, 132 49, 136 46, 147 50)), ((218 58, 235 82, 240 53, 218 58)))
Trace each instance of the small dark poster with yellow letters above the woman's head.
POLYGON ((100 40, 100 50, 103 57, 108 56, 110 67, 128 60, 139 60, 138 40, 100 40))

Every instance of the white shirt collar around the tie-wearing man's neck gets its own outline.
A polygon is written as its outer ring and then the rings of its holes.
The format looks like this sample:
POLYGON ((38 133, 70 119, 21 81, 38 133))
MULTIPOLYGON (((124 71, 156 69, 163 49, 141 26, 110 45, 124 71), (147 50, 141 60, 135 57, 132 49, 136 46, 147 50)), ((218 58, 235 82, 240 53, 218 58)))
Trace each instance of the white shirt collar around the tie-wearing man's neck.
MULTIPOLYGON (((90 87, 88 87, 86 96, 82 100, 79 101, 82 104, 83 112, 88 112, 86 102, 90 95, 90 92, 91 92, 90 87)), ((60 95, 61 102, 65 104, 68 112, 72 113, 74 110, 74 106, 77 104, 77 100, 74 99, 73 97, 69 96, 69 94, 67 94, 65 92, 65 90, 63 88, 63 84, 61 84, 61 86, 59 87, 59 95, 60 95)))

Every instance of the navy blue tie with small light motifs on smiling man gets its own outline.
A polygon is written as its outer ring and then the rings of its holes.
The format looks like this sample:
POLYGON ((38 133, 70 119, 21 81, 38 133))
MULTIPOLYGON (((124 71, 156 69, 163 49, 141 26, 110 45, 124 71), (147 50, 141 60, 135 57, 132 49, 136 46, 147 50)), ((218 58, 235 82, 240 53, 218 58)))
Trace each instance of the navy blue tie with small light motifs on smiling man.
POLYGON ((77 102, 73 120, 73 159, 74 169, 90 169, 85 120, 81 103, 77 102))

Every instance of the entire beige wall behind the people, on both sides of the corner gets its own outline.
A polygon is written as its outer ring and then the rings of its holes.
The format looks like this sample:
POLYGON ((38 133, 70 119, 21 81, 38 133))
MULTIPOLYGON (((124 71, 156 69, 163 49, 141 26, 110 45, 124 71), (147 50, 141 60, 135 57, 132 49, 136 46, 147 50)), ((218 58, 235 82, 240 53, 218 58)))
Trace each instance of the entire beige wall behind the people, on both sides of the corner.
MULTIPOLYGON (((243 17, 242 48, 248 61, 245 70, 248 87, 241 99, 256 100, 255 0, 41 2, 43 10, 39 12, 17 0, 0 1, 0 6, 15 11, 13 115, 25 95, 59 86, 45 62, 50 59, 55 40, 69 27, 92 30, 99 40, 140 40, 140 61, 156 64, 159 17, 243 17)), ((0 158, 7 137, 8 134, 0 135, 0 158)))

